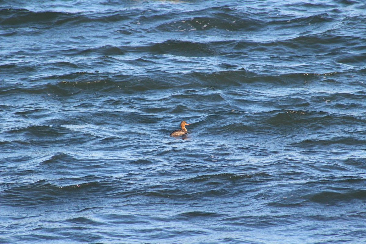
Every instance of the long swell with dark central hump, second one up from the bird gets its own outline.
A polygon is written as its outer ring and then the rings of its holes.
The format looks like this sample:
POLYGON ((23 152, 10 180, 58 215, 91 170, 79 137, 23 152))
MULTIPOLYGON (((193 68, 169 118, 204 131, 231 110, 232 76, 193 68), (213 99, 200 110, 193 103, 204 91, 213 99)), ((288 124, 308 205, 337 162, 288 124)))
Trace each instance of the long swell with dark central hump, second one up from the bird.
MULTIPOLYGON (((59 50, 55 55, 108 55, 119 56, 127 53, 143 53, 151 55, 175 55, 182 57, 209 57, 224 55, 248 55, 249 52, 261 51, 261 55, 266 57, 266 52, 274 52, 282 56, 307 57, 309 52, 312 55, 358 55, 351 52, 354 48, 361 48, 364 38, 358 35, 344 36, 341 33, 320 33, 304 34, 280 40, 251 41, 251 40, 213 40, 213 41, 186 41, 168 39, 161 42, 147 42, 143 45, 122 45, 122 46, 100 46, 87 49, 65 49, 59 50), (301 52, 306 45, 307 54, 301 52), (342 52, 335 49, 334 45, 342 46, 342 52), (321 48, 322 52, 319 52, 321 48), (317 50, 315 50, 317 49, 317 50), (347 52, 350 51, 350 52, 347 52)), ((51 53, 52 54, 52 53, 51 53)))

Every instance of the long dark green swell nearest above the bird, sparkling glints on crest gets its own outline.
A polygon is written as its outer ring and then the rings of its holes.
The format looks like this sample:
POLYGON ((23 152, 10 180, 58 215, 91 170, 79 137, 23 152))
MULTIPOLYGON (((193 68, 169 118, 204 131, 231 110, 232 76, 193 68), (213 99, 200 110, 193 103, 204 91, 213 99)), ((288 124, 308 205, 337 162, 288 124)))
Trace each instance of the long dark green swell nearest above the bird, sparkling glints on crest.
POLYGON ((73 72, 62 75, 51 75, 30 79, 26 83, 8 83, 3 85, 0 95, 11 94, 41 94, 52 96, 70 96, 88 93, 139 93, 141 91, 181 89, 201 89, 212 87, 223 89, 245 84, 269 84, 286 87, 294 84, 301 85, 304 80, 311 82, 324 80, 326 76, 340 76, 341 72, 328 74, 309 73, 264 73, 246 70, 220 70, 214 72, 186 72, 177 76, 176 73, 160 70, 149 74, 133 73, 101 73, 101 72, 73 72), (42 82, 40 82, 42 79, 42 82))

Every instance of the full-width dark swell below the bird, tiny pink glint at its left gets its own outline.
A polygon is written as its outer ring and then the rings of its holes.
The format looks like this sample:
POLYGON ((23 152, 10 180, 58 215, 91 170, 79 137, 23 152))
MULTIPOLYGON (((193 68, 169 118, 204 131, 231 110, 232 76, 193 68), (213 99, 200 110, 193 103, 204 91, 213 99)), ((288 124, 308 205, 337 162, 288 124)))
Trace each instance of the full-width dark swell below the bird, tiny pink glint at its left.
POLYGON ((139 184, 137 179, 127 177, 101 179, 96 176, 61 178, 56 180, 59 183, 50 183, 46 180, 19 182, 17 184, 2 183, 1 202, 12 206, 32 207, 55 203, 65 204, 70 199, 73 199, 74 202, 91 200, 95 199, 95 196, 98 196, 99 201, 102 201, 103 196, 109 196, 109 198, 123 199, 127 203, 142 196, 153 201, 165 198, 178 201, 191 201, 200 198, 202 201, 212 197, 236 199, 238 195, 250 192, 249 201, 266 198, 267 200, 263 202, 265 205, 284 207, 310 203, 338 205, 366 198, 366 192, 362 188, 365 180, 359 177, 340 176, 307 181, 294 180, 292 183, 285 183, 274 175, 263 176, 265 175, 261 176, 258 173, 253 175, 220 173, 163 180, 157 184, 152 182, 139 184), (66 183, 71 181, 78 183, 66 183), (268 181, 272 184, 263 188, 268 181), (271 191, 274 187, 277 188, 275 193, 271 191), (285 198, 279 196, 285 196, 285 198))

